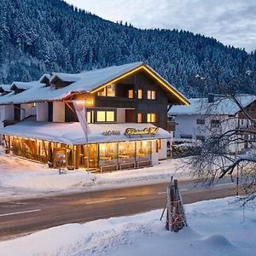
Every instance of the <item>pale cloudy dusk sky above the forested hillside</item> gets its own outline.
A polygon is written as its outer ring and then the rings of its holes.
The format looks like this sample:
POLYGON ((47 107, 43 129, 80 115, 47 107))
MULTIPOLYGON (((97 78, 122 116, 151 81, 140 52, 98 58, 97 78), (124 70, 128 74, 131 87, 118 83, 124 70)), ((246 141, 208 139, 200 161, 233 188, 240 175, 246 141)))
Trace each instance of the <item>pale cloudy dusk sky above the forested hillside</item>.
POLYGON ((66 0, 106 20, 139 28, 177 28, 256 49, 255 0, 66 0))

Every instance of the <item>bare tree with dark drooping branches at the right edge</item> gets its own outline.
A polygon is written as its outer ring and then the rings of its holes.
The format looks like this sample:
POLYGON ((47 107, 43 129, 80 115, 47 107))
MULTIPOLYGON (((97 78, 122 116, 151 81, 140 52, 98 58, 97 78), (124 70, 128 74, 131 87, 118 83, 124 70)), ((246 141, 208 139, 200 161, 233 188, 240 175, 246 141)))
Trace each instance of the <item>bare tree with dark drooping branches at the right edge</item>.
MULTIPOLYGON (((251 71, 245 73, 245 79, 252 82, 255 79, 250 77, 251 74, 251 71)), ((244 78, 233 78, 222 79, 222 82, 219 82, 218 88, 223 94, 205 109, 204 119, 212 119, 212 113, 218 113, 219 108, 225 108, 224 102, 228 104, 233 102, 239 113, 228 118, 220 118, 218 127, 216 127, 217 123, 214 125, 213 122, 212 125, 208 122, 205 127, 207 137, 196 154, 189 158, 187 164, 192 167, 195 179, 207 186, 214 185, 218 179, 225 176, 230 176, 232 180, 238 176, 241 192, 239 200, 245 205, 249 201, 256 200, 256 116, 248 111, 241 102, 241 96, 236 94, 237 84, 243 81, 244 78), (246 126, 237 124, 238 114, 243 119, 247 119, 246 126), (236 126, 234 122, 233 125, 229 125, 232 120, 236 121, 236 126)), ((256 88, 255 85, 251 85, 254 86, 252 88, 256 88)), ((201 107, 205 108, 203 102, 201 107)), ((256 113, 256 108, 254 110, 256 113)))

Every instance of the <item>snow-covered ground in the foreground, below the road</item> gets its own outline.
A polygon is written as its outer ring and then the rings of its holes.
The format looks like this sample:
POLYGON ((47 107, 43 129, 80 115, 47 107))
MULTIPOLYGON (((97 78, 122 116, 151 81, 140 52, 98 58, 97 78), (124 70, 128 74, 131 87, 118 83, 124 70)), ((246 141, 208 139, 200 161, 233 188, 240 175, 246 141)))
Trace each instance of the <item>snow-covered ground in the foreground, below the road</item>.
POLYGON ((0 242, 9 255, 180 255, 254 256, 255 212, 230 204, 234 198, 186 205, 189 227, 165 230, 161 210, 129 217, 66 224, 29 236, 0 242))

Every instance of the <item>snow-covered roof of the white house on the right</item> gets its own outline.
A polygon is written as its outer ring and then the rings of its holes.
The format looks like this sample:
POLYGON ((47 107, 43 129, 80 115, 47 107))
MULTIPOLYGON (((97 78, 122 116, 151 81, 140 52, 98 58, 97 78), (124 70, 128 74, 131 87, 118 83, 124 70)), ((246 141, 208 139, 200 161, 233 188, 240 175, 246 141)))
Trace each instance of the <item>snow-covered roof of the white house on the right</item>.
MULTIPOLYGON (((249 104, 256 100, 256 96, 242 95, 237 96, 241 106, 246 108, 249 104)), ((192 98, 189 99, 189 106, 173 106, 168 115, 196 115, 196 114, 236 114, 240 108, 233 99, 227 97, 219 97, 214 102, 208 102, 208 98, 192 98)))

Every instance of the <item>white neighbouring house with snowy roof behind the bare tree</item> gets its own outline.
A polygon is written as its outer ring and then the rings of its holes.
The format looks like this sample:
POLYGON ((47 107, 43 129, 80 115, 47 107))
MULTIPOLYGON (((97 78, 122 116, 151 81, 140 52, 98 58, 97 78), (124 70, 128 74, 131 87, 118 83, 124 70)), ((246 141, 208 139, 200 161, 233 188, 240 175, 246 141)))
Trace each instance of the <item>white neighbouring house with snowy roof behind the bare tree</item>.
MULTIPOLYGON (((238 96, 241 106, 256 119, 256 96, 238 96)), ((168 116, 175 121, 174 137, 179 139, 204 140, 213 133, 239 127, 251 127, 252 123, 241 112, 236 102, 224 96, 189 99, 189 106, 173 106, 168 116)), ((239 149, 244 148, 242 145, 239 149)), ((234 151, 235 148, 230 148, 234 151)))

